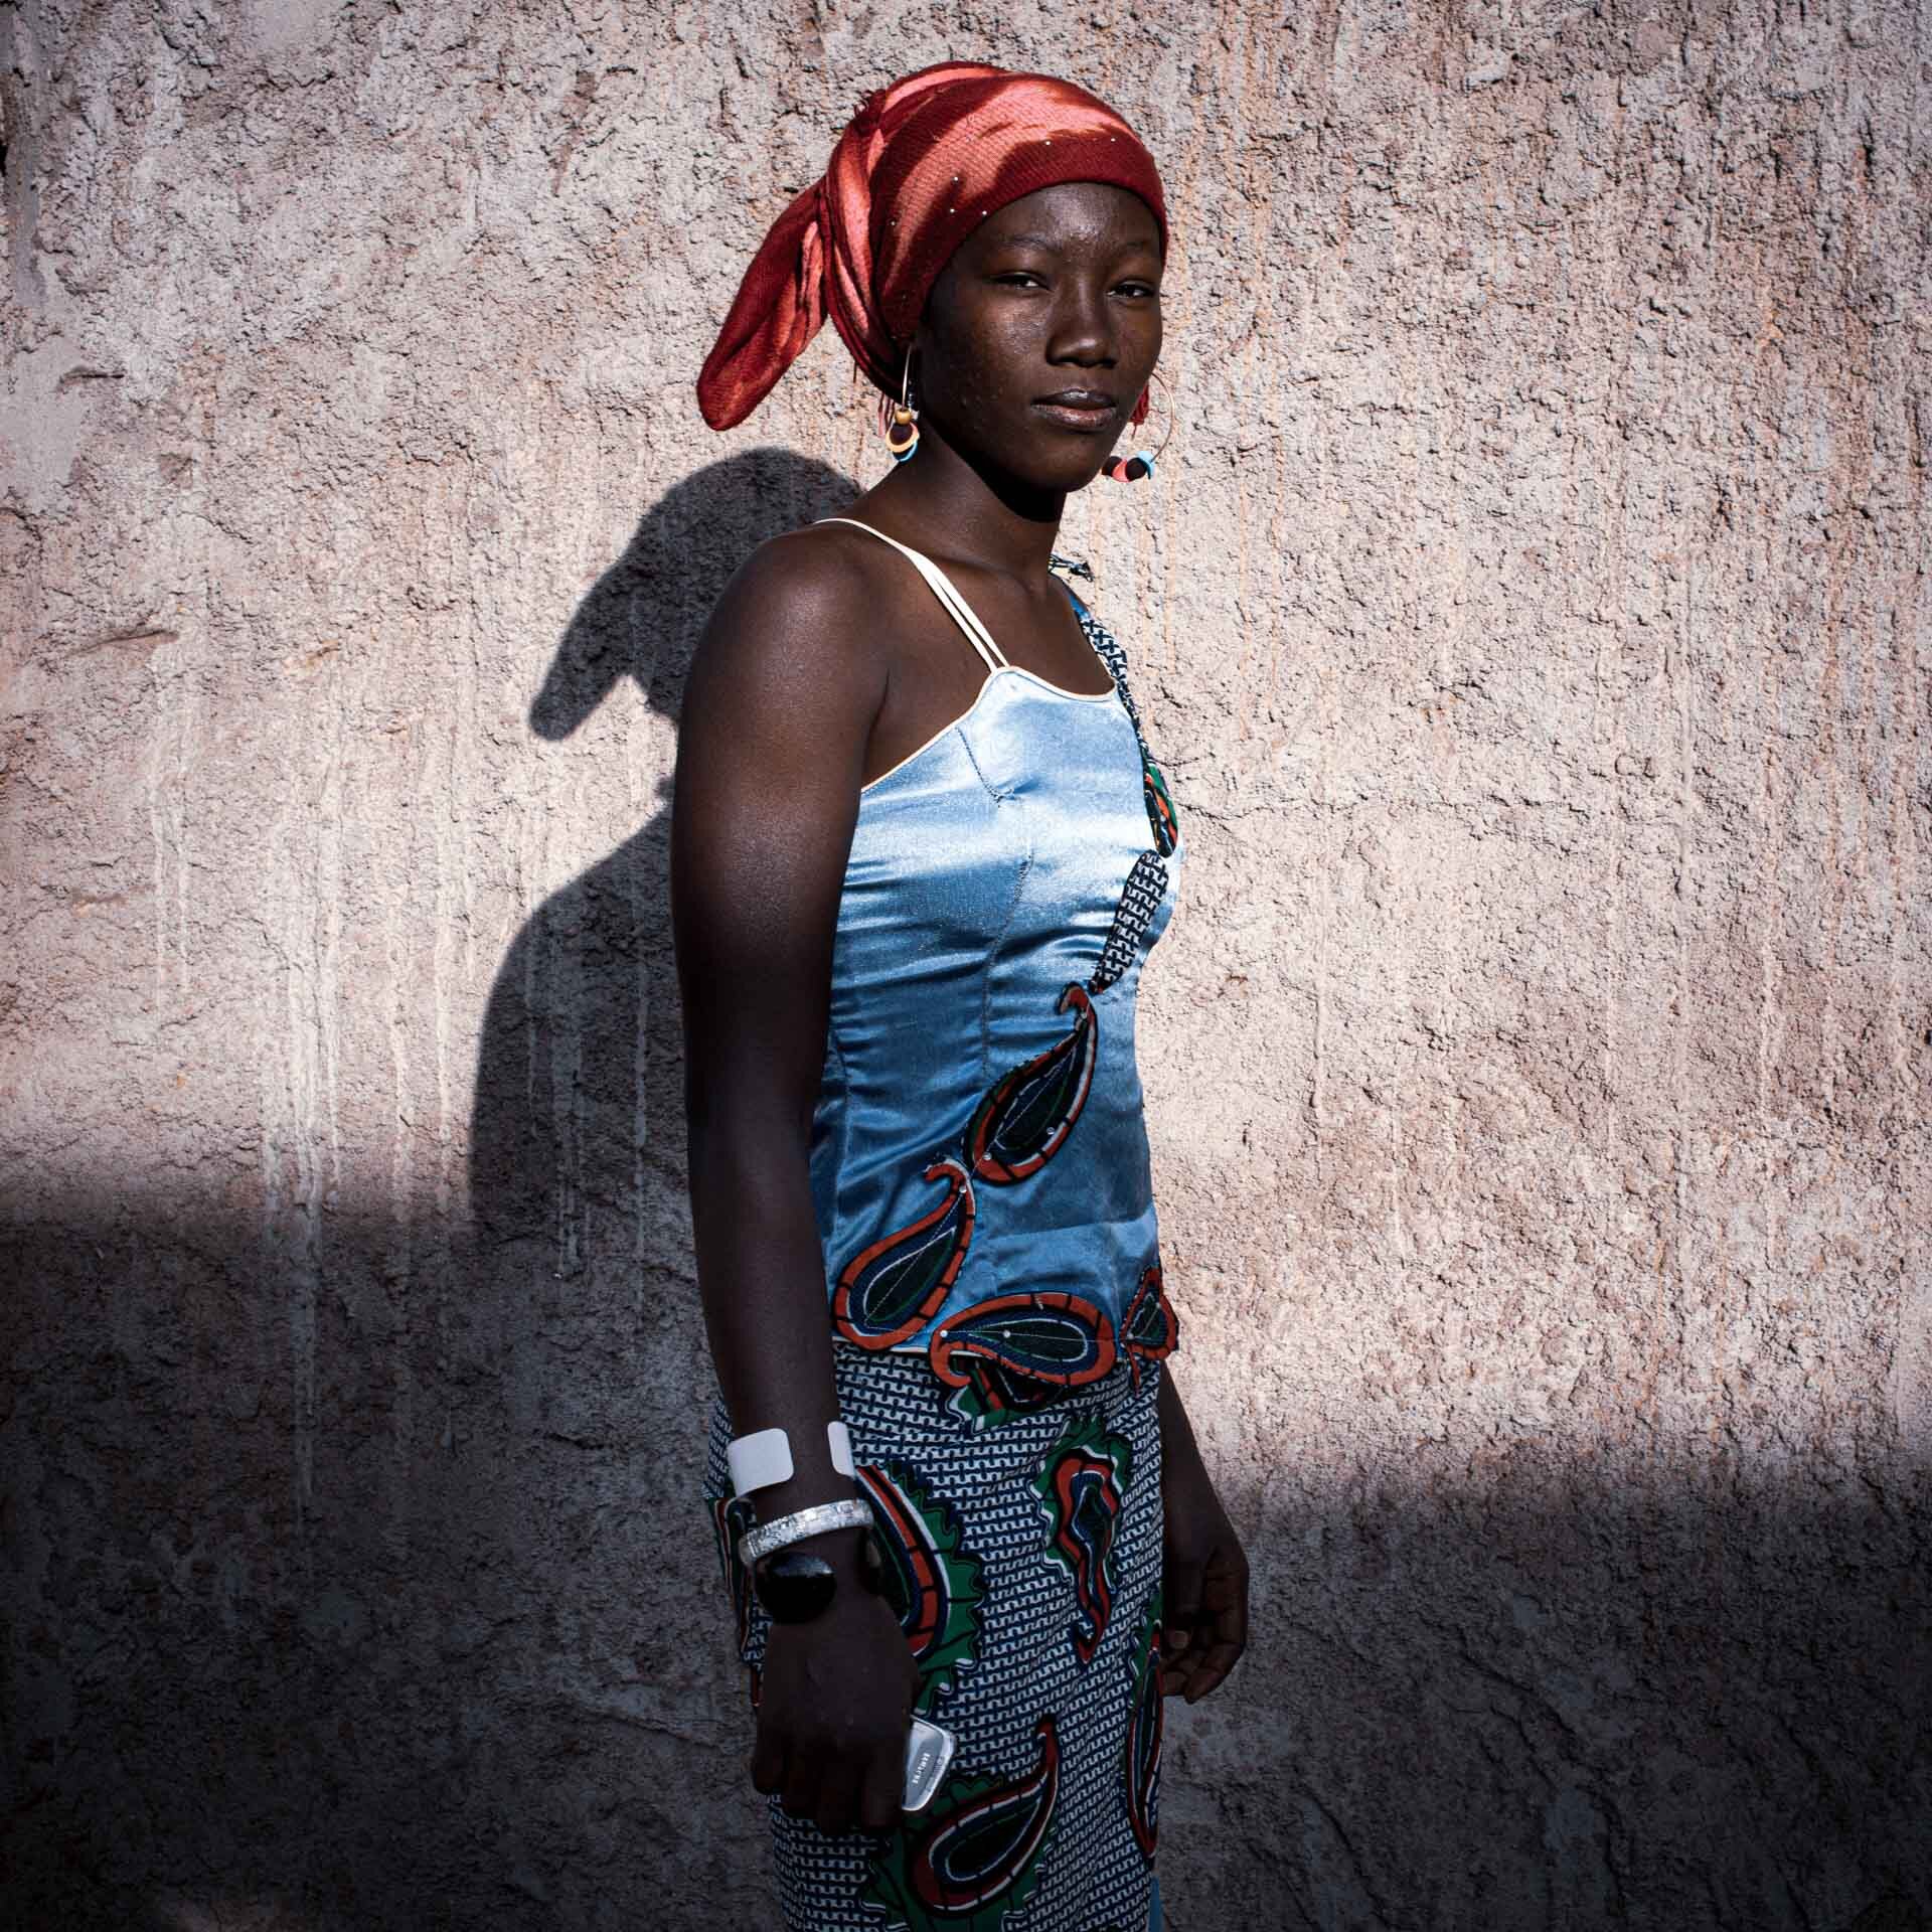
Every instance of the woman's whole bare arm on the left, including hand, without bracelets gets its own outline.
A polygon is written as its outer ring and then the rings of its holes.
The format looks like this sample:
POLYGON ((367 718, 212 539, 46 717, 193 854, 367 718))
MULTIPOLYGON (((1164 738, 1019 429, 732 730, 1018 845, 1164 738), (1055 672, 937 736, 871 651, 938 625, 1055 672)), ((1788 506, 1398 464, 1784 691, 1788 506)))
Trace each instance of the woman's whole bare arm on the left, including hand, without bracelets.
MULTIPOLYGON (((670 904, 684 997, 692 1227, 738 1435, 782 1428, 794 1474, 761 1522, 852 1495, 810 1190, 833 939, 867 738, 885 697, 864 574, 823 535, 763 545, 697 647, 678 740, 670 904)), ((833 1607, 775 1625, 752 1777, 825 1830, 898 1818, 912 1654, 858 1580, 858 1532, 810 1540, 833 1607)))

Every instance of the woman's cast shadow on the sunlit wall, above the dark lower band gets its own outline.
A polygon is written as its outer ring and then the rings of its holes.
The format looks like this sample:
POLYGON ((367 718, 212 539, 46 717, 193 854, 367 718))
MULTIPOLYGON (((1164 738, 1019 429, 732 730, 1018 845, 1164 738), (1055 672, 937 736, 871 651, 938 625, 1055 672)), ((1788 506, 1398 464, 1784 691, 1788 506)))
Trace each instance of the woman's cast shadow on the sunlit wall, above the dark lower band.
MULTIPOLYGON (((856 493, 775 448, 672 489, 572 616, 529 711, 535 734, 568 738, 624 678, 676 719, 692 649, 738 564, 856 493)), ((556 1279, 630 1269, 639 1312, 667 1294, 688 1302, 694 1279, 668 775, 659 802, 510 947, 483 1018, 469 1140, 477 1242, 522 1246, 556 1279)))

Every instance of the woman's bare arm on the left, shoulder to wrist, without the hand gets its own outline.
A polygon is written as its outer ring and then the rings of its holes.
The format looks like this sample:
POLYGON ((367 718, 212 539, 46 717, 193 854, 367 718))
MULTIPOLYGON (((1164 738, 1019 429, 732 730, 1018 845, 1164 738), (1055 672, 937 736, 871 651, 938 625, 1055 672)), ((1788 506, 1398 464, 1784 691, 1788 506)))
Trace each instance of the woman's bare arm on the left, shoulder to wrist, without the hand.
POLYGON ((808 1153, 833 935, 883 672, 850 572, 804 533, 763 545, 699 641, 684 699, 670 908, 684 995, 692 1223, 736 1434, 779 1426, 796 1474, 769 1519, 852 1493, 808 1153))

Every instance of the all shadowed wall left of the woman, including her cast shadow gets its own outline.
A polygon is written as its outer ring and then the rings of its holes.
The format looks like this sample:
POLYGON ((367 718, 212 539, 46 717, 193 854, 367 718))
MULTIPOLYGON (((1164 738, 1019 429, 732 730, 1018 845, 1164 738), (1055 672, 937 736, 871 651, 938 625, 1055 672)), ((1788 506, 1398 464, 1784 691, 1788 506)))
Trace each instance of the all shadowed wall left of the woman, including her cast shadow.
MULTIPOLYGON (((674 723, 732 570, 852 495, 771 448, 670 489, 564 628, 535 738, 626 680, 674 723)), ((761 1922, 653 746, 647 821, 500 962, 468 1221, 361 1186, 267 1227, 191 1190, 0 1202, 0 1922, 761 1922)))

